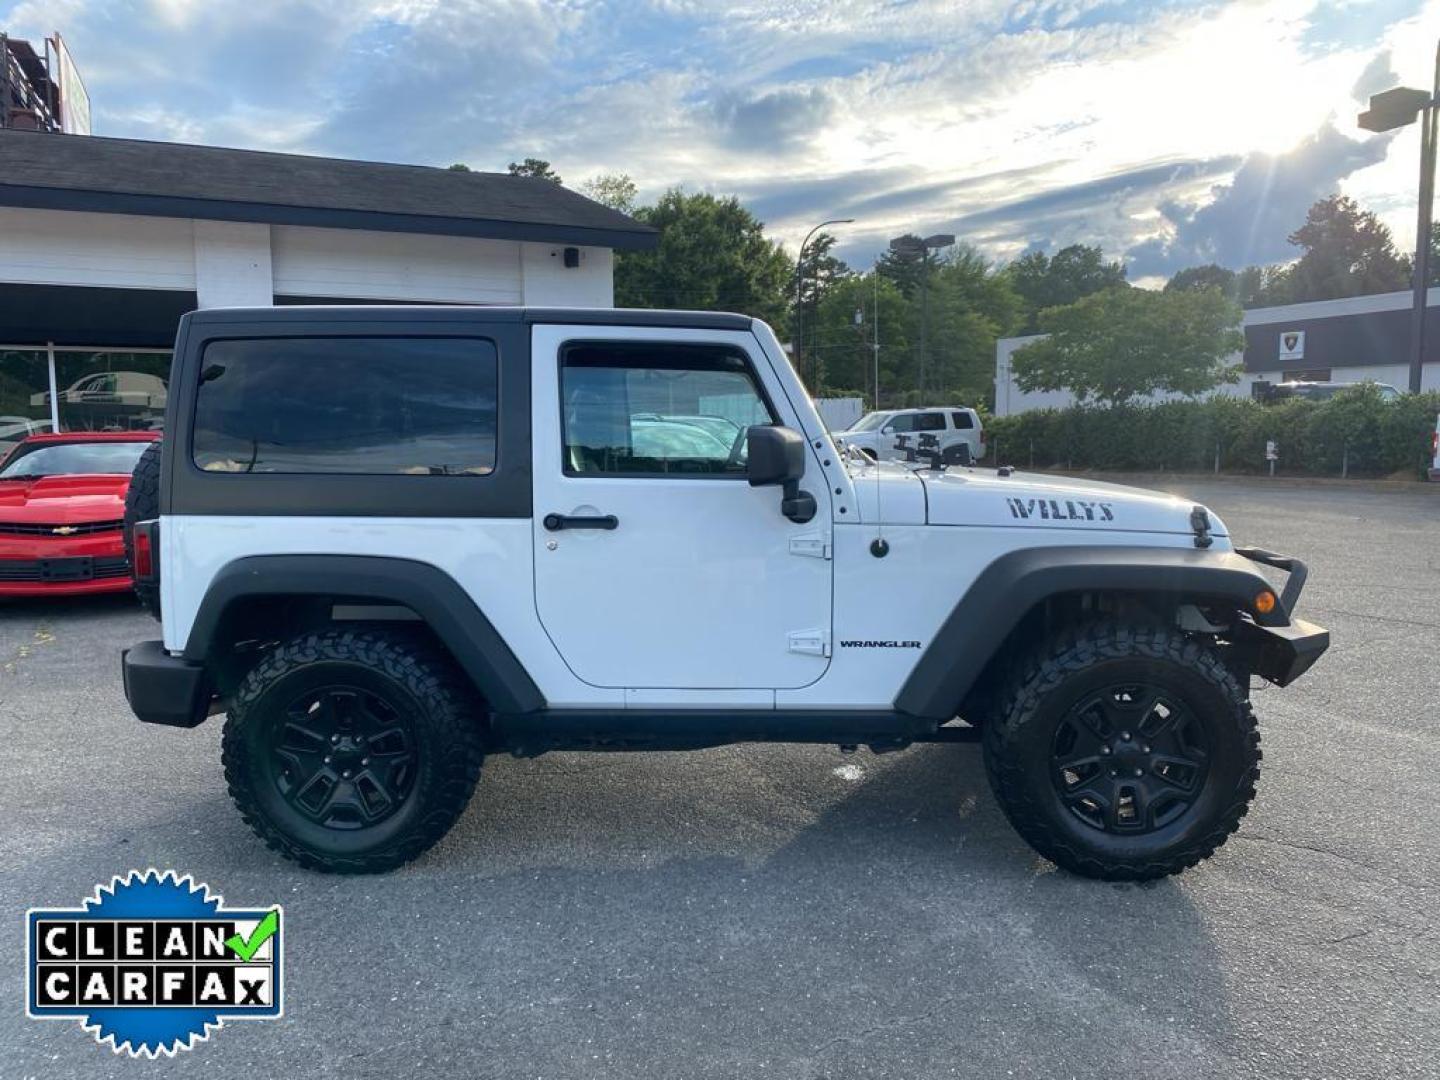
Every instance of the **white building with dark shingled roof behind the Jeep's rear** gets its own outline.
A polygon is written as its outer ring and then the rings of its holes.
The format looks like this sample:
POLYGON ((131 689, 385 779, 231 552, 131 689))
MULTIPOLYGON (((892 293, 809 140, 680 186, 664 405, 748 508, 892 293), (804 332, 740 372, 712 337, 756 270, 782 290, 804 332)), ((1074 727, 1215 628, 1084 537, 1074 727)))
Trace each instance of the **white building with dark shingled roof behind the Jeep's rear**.
POLYGON ((0 130, 0 448, 154 422, 120 376, 163 380, 197 307, 611 307, 613 252, 654 243, 533 177, 0 130))

